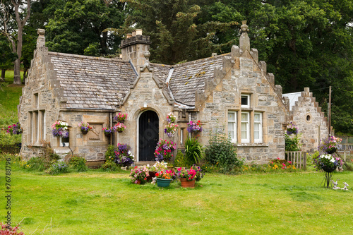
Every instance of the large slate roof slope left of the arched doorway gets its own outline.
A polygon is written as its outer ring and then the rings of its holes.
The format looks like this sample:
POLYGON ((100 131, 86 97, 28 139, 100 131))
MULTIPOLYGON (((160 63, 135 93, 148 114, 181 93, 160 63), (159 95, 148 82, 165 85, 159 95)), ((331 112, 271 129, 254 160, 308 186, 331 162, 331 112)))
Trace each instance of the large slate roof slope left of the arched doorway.
POLYGON ((49 52, 56 78, 67 97, 66 108, 115 109, 136 79, 128 62, 49 52))

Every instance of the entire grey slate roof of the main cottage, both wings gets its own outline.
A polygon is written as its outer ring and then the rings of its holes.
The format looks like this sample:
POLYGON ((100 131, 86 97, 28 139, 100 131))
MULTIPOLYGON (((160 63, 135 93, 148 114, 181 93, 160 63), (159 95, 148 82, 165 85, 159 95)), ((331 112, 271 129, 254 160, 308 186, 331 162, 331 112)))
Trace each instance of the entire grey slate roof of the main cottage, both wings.
MULTIPOLYGON (((164 94, 190 107, 195 105, 196 90, 205 90, 205 80, 213 78, 216 66, 222 66, 223 54, 190 61, 175 66, 153 64, 155 78, 164 83, 164 94), (165 85, 169 71, 170 91, 165 85)), ((56 78, 64 89, 66 107, 73 109, 115 109, 121 104, 136 80, 128 61, 120 58, 102 58, 49 52, 56 78)))

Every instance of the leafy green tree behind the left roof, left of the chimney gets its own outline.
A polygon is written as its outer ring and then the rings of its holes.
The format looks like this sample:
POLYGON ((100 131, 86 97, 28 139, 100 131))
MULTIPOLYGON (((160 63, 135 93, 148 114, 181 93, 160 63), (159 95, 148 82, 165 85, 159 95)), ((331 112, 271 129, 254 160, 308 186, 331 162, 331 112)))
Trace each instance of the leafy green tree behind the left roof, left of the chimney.
MULTIPOLYGON (((47 25, 47 46, 54 52, 84 54, 99 44, 100 54, 114 54, 120 37, 105 29, 124 22, 124 4, 118 0, 68 0, 56 5, 47 25)), ((56 3, 57 4, 57 3, 56 3)), ((52 11, 52 8, 49 8, 52 11)))

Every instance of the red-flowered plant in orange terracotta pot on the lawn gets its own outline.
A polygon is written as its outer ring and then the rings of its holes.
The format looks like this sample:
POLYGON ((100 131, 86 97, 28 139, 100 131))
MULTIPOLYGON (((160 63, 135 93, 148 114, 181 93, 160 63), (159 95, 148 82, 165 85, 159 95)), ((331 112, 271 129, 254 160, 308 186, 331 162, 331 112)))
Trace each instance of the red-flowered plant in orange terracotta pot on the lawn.
POLYGON ((203 178, 201 167, 196 165, 193 165, 190 169, 179 167, 177 169, 177 176, 183 188, 195 188, 195 181, 201 181, 203 178))

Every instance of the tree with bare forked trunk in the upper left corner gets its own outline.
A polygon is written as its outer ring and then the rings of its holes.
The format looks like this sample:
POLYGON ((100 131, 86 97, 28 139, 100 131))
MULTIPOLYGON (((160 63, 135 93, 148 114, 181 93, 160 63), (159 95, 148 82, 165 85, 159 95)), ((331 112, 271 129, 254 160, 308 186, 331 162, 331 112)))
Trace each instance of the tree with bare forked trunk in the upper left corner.
POLYGON ((7 37, 9 42, 11 42, 12 51, 18 56, 14 62, 13 83, 20 85, 20 58, 22 55, 23 46, 23 28, 25 27, 27 20, 30 18, 30 0, 27 0, 26 4, 21 0, 11 0, 11 2, 1 0, 0 5, 2 17, 1 33, 7 37), (10 4, 13 7, 13 13, 15 14, 17 24, 16 30, 13 31, 8 27, 8 23, 11 23, 10 4))

